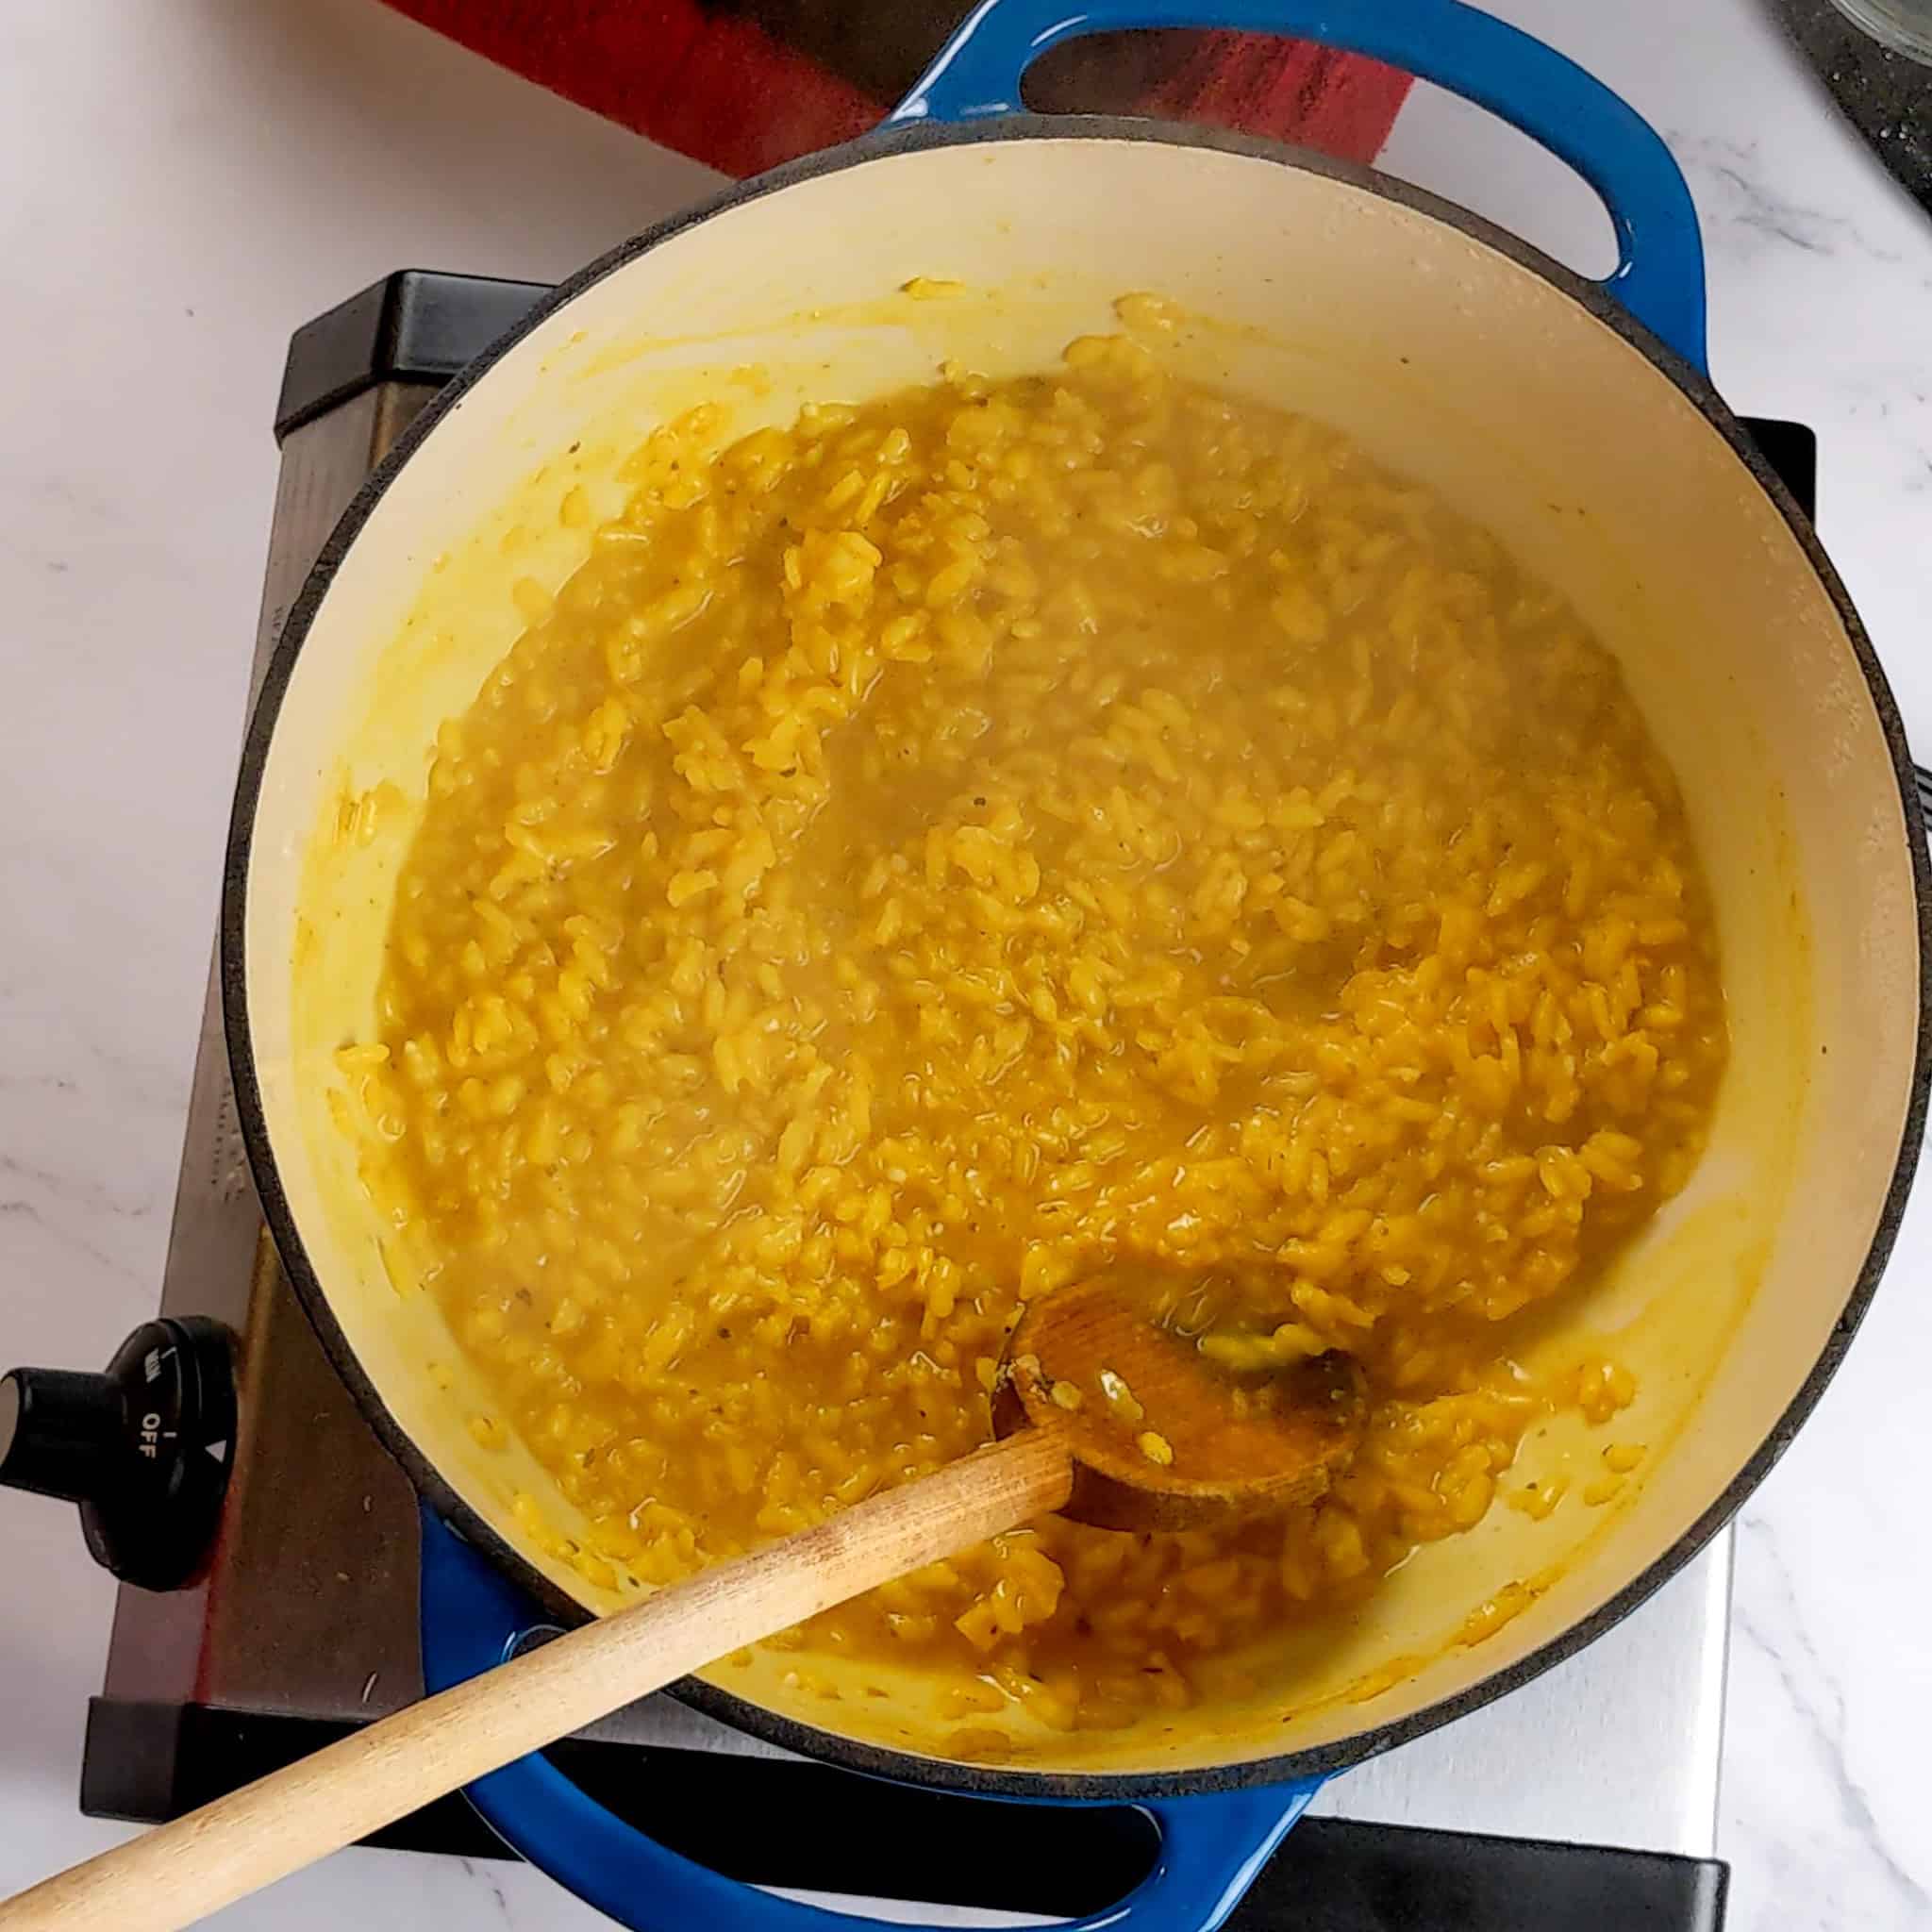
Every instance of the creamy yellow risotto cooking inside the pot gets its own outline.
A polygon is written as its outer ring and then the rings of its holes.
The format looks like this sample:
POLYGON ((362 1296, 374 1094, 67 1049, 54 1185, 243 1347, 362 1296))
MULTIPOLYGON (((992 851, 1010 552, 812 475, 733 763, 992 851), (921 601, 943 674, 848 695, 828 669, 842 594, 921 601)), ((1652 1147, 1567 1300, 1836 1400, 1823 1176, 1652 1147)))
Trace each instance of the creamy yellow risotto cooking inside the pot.
POLYGON ((964 1455, 1022 1300, 1138 1269, 1235 1366, 1362 1364, 1331 1493, 1043 1520, 804 1634, 981 1729, 1121 1725, 1631 1399, 1532 1385, 1511 1318, 1685 1180, 1723 995, 1677 786, 1557 595, 1128 336, 701 410, 626 483, 439 738, 346 1057, 473 1428, 591 1577, 964 1455))

